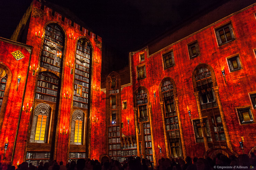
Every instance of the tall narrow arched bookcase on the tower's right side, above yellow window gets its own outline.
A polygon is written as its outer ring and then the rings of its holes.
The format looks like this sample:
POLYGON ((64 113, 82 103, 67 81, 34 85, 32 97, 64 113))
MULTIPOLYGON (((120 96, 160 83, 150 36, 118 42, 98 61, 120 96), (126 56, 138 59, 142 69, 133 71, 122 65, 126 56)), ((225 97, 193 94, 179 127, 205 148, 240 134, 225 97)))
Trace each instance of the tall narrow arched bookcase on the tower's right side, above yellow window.
POLYGON ((85 39, 79 39, 77 42, 76 49, 73 106, 88 109, 90 89, 90 68, 90 45, 85 39))

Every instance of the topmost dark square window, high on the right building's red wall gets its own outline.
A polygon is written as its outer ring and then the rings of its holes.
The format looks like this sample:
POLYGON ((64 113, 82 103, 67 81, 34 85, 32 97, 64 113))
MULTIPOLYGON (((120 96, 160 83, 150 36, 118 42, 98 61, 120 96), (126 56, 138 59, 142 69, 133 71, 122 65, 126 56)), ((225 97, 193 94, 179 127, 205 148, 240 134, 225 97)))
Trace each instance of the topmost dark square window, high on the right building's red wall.
POLYGON ((227 42, 235 40, 235 36, 233 33, 231 23, 229 23, 221 28, 216 29, 215 32, 216 32, 219 46, 221 46, 222 44, 225 44, 227 42))

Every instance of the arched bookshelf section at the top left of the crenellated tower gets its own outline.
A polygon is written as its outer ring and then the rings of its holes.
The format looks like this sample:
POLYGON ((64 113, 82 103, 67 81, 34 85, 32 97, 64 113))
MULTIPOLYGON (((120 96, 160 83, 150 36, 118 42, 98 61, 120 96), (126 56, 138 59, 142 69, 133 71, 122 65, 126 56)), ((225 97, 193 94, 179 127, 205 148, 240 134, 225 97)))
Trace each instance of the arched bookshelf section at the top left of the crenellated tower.
POLYGON ((56 72, 61 72, 62 54, 65 37, 60 26, 50 23, 46 26, 44 35, 43 51, 41 56, 41 67, 56 72))

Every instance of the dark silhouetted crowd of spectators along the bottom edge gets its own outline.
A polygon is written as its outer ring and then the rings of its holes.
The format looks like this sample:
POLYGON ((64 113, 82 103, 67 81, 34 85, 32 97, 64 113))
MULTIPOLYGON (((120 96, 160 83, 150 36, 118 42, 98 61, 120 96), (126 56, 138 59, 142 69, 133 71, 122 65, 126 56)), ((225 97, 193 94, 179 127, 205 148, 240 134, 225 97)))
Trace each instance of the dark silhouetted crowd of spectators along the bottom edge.
MULTIPOLYGON (((256 157, 251 154, 251 158, 247 154, 241 154, 238 157, 224 154, 217 154, 214 159, 186 157, 185 161, 181 158, 161 158, 158 160, 157 170, 249 170, 256 169, 256 157)), ((15 166, 8 165, 7 170, 15 170, 15 166)), ((140 157, 129 157, 122 164, 118 160, 99 162, 98 160, 80 158, 67 163, 51 161, 50 163, 40 162, 39 166, 33 166, 28 162, 21 163, 16 170, 153 170, 150 160, 140 157)), ((1 168, 0 168, 1 170, 1 168)))

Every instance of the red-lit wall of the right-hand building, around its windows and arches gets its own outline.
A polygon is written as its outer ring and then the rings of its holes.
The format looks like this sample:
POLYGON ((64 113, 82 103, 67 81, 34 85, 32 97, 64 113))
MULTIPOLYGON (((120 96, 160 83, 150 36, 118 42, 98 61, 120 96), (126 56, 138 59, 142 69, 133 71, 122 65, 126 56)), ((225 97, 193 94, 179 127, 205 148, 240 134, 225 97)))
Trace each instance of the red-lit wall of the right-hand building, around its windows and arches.
MULTIPOLYGON (((158 91, 160 81, 165 77, 172 78, 176 84, 187 156, 202 157, 205 153, 204 143, 195 142, 193 126, 190 123, 187 113, 188 106, 189 109, 191 109, 191 118, 198 118, 192 84, 192 72, 200 63, 209 64, 214 69, 233 151, 238 154, 242 153, 238 143, 238 140, 241 141, 242 136, 245 139, 245 153, 248 154, 249 151, 255 147, 256 135, 255 131, 251 130, 256 128, 255 123, 240 125, 236 111, 237 107, 249 105, 254 116, 254 122, 256 121, 256 111, 251 105, 248 94, 249 92, 256 91, 256 58, 254 53, 256 39, 255 36, 253 36, 255 35, 256 29, 255 12, 256 7, 251 7, 213 24, 211 27, 203 29, 180 42, 174 43, 168 48, 162 50, 158 49, 160 50, 159 52, 149 57, 147 51, 150 46, 131 54, 132 91, 134 92, 140 86, 144 86, 149 90, 148 98, 152 104, 153 135, 157 160, 160 158, 158 144, 162 147, 162 156, 166 156, 159 104, 159 95, 161 94, 159 94, 158 91), (214 28, 229 22, 232 23, 236 40, 218 47, 214 28), (187 43, 194 40, 198 41, 201 55, 194 59, 189 59, 187 43), (162 53, 169 50, 173 50, 175 66, 164 70, 162 53), (145 53, 145 61, 143 62, 139 61, 139 53, 141 52, 145 53), (226 57, 238 53, 243 68, 230 73, 226 57), (136 66, 143 63, 145 63, 147 78, 138 81, 136 79, 136 66), (221 73, 223 67, 226 71, 228 85, 225 84, 221 73), (156 91, 156 99, 153 97, 154 91, 156 91)), ((175 33, 173 36, 175 36, 175 33)), ((154 46, 153 44, 152 46, 155 48, 156 45, 154 46)), ((129 95, 132 95, 132 91, 129 91, 129 95)), ((125 93, 125 91, 122 91, 122 95, 125 96, 123 93, 125 93)), ((123 113, 125 114, 125 112, 122 112, 122 114, 123 113)), ((122 117, 125 118, 126 115, 122 117)))

